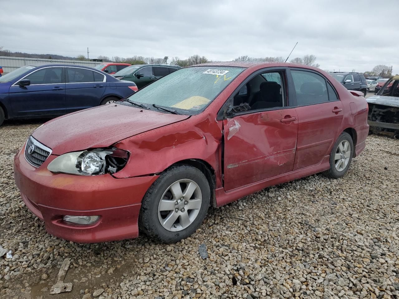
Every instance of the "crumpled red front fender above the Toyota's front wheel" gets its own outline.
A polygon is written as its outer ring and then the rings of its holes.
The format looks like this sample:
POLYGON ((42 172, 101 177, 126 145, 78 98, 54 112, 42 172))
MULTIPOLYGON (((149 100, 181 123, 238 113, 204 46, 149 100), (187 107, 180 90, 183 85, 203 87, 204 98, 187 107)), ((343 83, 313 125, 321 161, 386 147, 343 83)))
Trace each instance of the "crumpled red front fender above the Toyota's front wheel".
POLYGON ((179 161, 198 159, 211 165, 216 174, 216 185, 220 187, 221 129, 221 122, 201 114, 126 138, 115 146, 130 149, 129 162, 113 176, 124 178, 156 174, 179 161))

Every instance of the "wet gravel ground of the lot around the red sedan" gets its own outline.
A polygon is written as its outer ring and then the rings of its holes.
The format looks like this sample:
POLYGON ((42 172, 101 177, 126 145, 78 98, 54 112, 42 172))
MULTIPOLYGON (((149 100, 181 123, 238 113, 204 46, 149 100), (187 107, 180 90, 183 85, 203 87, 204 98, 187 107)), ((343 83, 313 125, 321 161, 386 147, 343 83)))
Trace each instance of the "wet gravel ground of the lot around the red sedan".
POLYGON ((0 127, 0 245, 13 255, 0 258, 1 298, 399 297, 398 140, 369 136, 342 179, 312 175, 210 209, 177 244, 75 244, 47 234, 14 184, 13 157, 40 124, 0 127), (73 289, 49 295, 65 258, 73 289))

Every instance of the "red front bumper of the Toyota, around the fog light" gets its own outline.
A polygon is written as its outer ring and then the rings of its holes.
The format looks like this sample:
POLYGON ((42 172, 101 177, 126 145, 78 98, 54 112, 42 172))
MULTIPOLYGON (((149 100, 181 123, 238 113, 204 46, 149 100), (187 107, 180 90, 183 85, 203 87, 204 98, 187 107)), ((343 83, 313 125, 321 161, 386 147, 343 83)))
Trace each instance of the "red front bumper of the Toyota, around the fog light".
POLYGON ((14 177, 22 200, 44 220, 47 232, 82 243, 136 238, 141 201, 158 176, 116 179, 111 175, 54 174, 47 165, 30 165, 19 151, 14 158, 14 177), (99 215, 97 222, 79 225, 62 220, 63 215, 99 215))

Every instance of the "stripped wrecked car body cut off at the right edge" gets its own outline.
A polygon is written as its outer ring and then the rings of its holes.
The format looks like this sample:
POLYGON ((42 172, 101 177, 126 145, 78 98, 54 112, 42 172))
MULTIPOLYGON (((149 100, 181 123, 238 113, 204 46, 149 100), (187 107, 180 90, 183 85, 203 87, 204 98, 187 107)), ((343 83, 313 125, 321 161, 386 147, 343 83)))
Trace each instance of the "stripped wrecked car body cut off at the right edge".
POLYGON ((367 98, 370 132, 399 135, 399 76, 389 79, 375 96, 367 98))

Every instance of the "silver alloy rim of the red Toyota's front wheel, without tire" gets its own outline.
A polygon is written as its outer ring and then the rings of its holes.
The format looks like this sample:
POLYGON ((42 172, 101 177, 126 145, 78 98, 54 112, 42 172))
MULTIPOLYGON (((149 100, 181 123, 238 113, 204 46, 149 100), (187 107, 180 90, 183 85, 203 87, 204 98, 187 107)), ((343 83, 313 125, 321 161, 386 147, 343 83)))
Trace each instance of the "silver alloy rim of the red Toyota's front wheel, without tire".
POLYGON ((202 204, 201 189, 190 179, 181 179, 170 185, 158 204, 158 219, 170 232, 188 228, 197 218, 202 204))

